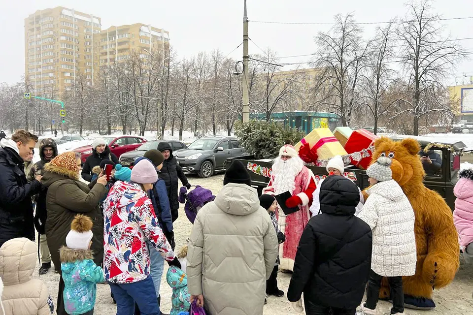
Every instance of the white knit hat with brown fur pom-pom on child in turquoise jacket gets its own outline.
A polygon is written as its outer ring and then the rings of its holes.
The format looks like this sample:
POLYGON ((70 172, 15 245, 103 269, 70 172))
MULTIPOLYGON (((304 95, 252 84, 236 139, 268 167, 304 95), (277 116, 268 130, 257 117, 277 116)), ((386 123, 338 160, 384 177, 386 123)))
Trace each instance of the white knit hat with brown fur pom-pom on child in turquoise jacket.
POLYGON ((76 215, 70 223, 70 231, 66 236, 66 245, 71 250, 88 250, 94 234, 91 229, 94 223, 84 215, 76 215))

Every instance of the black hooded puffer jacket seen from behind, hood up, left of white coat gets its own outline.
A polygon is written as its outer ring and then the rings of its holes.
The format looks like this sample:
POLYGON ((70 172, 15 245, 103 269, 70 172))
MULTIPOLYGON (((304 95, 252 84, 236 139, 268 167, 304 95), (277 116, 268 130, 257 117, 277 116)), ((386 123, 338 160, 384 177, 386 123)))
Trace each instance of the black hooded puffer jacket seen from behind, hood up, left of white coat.
POLYGON ((360 305, 371 269, 372 232, 354 216, 357 186, 329 176, 320 190, 319 214, 310 219, 299 242, 287 298, 325 307, 360 305), (343 242, 340 244, 340 242, 343 242))

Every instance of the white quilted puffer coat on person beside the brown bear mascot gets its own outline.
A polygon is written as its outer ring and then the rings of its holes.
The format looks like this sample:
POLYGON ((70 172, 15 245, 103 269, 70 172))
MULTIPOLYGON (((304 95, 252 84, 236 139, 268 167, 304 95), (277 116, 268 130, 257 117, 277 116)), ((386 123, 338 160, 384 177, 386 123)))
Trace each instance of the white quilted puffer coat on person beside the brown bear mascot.
POLYGON ((358 215, 373 231, 371 269, 383 277, 412 276, 417 262, 414 210, 399 184, 390 180, 367 189, 358 215))

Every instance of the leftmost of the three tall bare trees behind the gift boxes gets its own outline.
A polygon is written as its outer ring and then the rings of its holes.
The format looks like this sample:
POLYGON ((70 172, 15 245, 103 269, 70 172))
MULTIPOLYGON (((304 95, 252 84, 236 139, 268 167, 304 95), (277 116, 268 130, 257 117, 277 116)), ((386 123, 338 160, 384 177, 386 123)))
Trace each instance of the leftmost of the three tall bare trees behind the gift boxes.
POLYGON ((315 37, 318 51, 313 63, 320 68, 314 93, 323 97, 314 104, 337 114, 343 126, 350 124, 353 110, 360 105, 360 77, 366 66, 370 43, 362 39, 362 29, 351 14, 336 15, 336 25, 315 37))

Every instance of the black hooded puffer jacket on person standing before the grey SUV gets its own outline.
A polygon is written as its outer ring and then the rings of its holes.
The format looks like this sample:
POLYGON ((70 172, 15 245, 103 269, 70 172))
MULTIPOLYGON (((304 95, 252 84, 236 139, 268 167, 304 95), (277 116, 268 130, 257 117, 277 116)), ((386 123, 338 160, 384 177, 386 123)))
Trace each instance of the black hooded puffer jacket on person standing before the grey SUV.
POLYGON ((178 209, 179 209, 179 202, 177 201, 177 190, 179 189, 179 185, 177 182, 177 178, 181 180, 183 186, 189 184, 187 181, 187 177, 182 171, 179 164, 177 164, 176 158, 172 155, 172 149, 168 142, 161 142, 158 145, 158 151, 163 152, 169 150, 170 156, 167 160, 163 163, 163 168, 161 169, 161 173, 159 177, 164 180, 166 183, 166 188, 168 189, 168 197, 169 197, 169 206, 171 208, 171 216, 172 221, 176 221, 178 217, 178 209))

